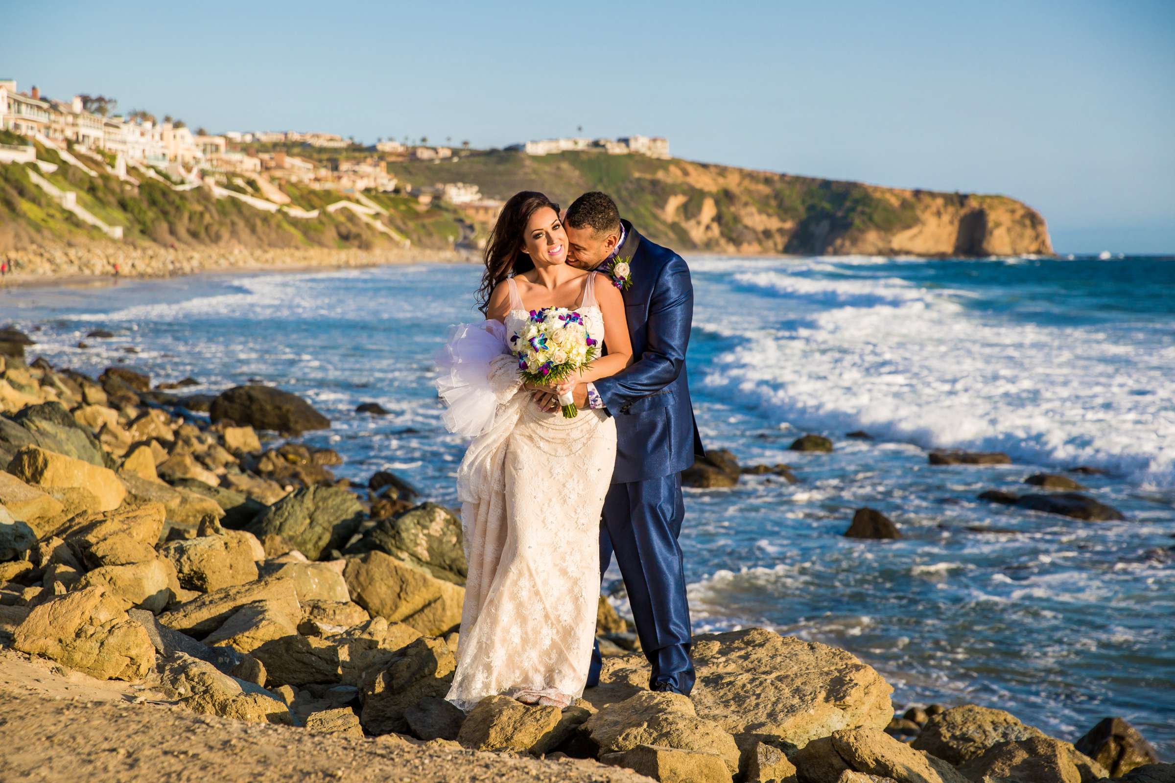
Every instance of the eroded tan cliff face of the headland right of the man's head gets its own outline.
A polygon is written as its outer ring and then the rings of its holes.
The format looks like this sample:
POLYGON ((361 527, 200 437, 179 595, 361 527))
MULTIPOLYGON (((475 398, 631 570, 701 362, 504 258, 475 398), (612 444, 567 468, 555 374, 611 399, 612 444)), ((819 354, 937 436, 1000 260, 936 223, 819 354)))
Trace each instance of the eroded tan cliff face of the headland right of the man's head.
POLYGON ((646 232, 674 247, 803 255, 1053 252, 1045 218, 1006 196, 882 188, 686 161, 634 175, 634 183, 651 182, 625 188, 618 202, 638 214, 651 207, 658 220, 646 232), (642 203, 639 194, 665 188, 673 193, 659 203, 642 203))

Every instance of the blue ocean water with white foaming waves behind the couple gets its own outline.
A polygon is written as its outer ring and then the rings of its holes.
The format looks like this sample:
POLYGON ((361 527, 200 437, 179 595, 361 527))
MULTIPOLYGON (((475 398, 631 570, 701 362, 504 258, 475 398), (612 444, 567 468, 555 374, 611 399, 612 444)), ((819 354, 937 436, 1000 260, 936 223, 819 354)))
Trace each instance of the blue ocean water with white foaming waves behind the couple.
MULTIPOLYGON (((1175 259, 690 264, 707 446, 801 479, 687 491, 696 629, 844 647, 898 703, 1003 708, 1070 741, 1123 716, 1175 761, 1175 259), (788 451, 806 432, 835 452, 788 451), (936 447, 1015 464, 932 467, 936 447), (1107 472, 1075 478, 1126 521, 975 499, 1079 465, 1107 472), (861 506, 905 538, 842 538, 861 506)), ((275 383, 333 419, 306 440, 347 458, 338 474, 394 470, 454 502, 463 444, 441 426, 431 356, 449 324, 477 317, 478 275, 421 264, 26 289, 0 292, 0 318, 38 330, 32 356, 83 372, 123 363, 193 376, 197 392, 275 383), (75 347, 98 326, 116 336, 75 347), (362 401, 391 414, 356 414, 362 401)))

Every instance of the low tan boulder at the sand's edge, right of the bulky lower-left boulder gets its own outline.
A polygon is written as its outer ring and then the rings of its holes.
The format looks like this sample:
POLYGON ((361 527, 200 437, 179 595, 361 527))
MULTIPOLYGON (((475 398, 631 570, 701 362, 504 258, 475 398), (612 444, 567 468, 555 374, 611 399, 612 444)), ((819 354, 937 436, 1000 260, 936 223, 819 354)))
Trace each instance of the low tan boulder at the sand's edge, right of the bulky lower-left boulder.
POLYGON ((273 694, 219 671, 200 659, 176 653, 160 669, 163 691, 194 713, 249 723, 295 723, 289 708, 273 694))

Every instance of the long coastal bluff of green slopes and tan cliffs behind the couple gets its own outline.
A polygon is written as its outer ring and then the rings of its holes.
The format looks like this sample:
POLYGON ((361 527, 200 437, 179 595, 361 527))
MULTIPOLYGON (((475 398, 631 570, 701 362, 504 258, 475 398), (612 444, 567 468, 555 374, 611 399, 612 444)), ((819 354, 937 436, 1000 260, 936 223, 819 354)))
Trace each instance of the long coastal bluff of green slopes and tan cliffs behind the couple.
MULTIPOLYGON (((477 185, 498 201, 518 190, 543 190, 563 204, 580 193, 604 190, 643 234, 680 251, 1053 252, 1043 217, 1006 196, 902 190, 643 155, 490 150, 443 162, 387 160, 387 174, 398 181, 396 193, 351 194, 275 184, 261 174, 231 177, 224 187, 180 182, 141 166, 116 175, 93 150, 70 146, 73 155, 39 141, 33 149, 35 164, 0 164, 0 252, 28 271, 39 266, 26 261, 29 252, 79 247, 102 247, 109 251, 105 255, 160 248, 197 254, 208 248, 472 254, 488 234, 492 210, 431 198, 444 183, 477 185)), ((338 150, 318 163, 337 168, 365 155, 370 153, 362 148, 338 150)), ((48 266, 60 268, 51 274, 93 274, 70 271, 59 258, 48 266)))

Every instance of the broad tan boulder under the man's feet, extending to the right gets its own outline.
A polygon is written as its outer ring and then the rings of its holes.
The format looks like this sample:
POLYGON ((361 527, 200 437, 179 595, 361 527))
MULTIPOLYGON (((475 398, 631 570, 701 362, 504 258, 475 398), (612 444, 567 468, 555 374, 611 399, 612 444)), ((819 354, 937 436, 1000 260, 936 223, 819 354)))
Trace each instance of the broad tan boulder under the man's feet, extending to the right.
MULTIPOLYGON (((884 729, 893 717, 893 688, 852 654, 763 628, 700 634, 693 640, 698 717, 739 737, 788 748, 839 729, 884 729)), ((585 697, 603 706, 647 687, 643 655, 607 657, 603 687, 585 697)))

